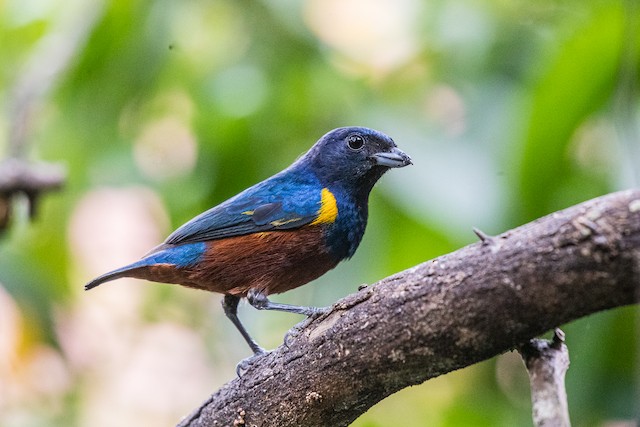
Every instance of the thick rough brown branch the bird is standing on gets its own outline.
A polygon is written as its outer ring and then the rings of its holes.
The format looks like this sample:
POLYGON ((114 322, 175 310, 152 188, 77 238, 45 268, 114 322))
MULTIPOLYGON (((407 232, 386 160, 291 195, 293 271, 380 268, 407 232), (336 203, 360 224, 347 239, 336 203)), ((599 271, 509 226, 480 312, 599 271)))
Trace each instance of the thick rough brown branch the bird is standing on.
POLYGON ((346 426, 402 388, 640 300, 640 190, 481 236, 303 322, 179 425, 346 426))

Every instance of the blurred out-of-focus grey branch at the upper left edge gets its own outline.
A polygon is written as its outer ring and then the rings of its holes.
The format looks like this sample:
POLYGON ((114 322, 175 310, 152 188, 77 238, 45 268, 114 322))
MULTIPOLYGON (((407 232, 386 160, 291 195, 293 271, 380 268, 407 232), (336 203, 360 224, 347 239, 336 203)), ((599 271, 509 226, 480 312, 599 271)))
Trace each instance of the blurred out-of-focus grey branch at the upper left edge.
POLYGON ((66 172, 61 165, 33 164, 26 158, 38 107, 83 47, 104 11, 102 0, 72 0, 66 6, 53 21, 51 30, 33 48, 11 90, 9 158, 0 163, 0 233, 9 225, 16 194, 27 197, 29 217, 33 218, 39 197, 59 189, 65 181, 66 172))

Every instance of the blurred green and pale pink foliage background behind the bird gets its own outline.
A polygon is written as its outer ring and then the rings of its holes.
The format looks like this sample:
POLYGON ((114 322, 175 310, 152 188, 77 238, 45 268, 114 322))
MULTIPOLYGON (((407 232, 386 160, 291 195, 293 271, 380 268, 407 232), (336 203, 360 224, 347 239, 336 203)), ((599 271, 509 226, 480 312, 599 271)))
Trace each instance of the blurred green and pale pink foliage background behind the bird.
MULTIPOLYGON (((0 0, 2 157, 63 165, 0 236, 0 426, 171 426, 249 355, 220 296, 120 280, 175 227, 362 125, 414 166, 354 258, 276 297, 329 305, 476 237, 638 185, 634 0, 0 0), (16 149, 16 147, 18 147, 16 149)), ((567 304, 570 304, 567 301, 567 304)), ((268 348, 299 316, 240 316, 268 348)), ((639 414, 637 307, 564 325, 576 426, 639 414)), ((530 425, 508 353, 355 423, 530 425)))

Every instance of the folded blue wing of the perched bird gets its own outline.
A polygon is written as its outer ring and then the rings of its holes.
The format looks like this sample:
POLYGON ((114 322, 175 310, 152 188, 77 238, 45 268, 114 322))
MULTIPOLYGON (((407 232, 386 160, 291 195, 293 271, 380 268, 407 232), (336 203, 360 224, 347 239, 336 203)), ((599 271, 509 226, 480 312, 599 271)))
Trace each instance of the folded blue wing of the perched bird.
POLYGON ((245 234, 298 228, 319 215, 322 188, 280 183, 258 185, 209 209, 165 241, 183 244, 245 234))

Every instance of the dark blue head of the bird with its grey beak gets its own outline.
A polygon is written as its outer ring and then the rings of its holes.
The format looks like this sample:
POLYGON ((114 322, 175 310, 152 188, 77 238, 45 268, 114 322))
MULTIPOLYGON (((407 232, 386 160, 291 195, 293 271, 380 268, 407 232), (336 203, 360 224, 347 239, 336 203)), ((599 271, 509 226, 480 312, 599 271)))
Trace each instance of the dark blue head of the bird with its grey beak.
POLYGON ((366 196, 390 168, 411 164, 393 139, 373 129, 344 127, 324 135, 297 162, 304 163, 322 184, 366 196))

